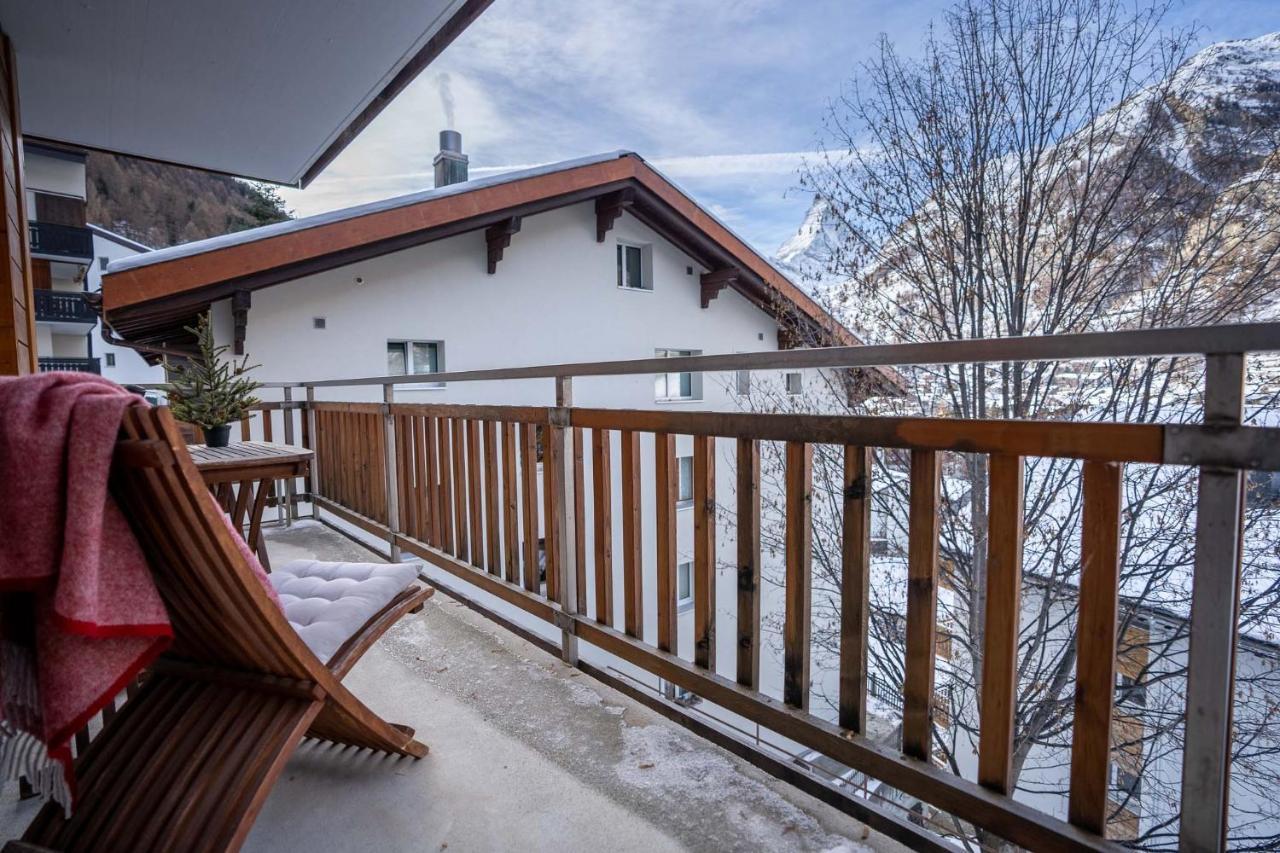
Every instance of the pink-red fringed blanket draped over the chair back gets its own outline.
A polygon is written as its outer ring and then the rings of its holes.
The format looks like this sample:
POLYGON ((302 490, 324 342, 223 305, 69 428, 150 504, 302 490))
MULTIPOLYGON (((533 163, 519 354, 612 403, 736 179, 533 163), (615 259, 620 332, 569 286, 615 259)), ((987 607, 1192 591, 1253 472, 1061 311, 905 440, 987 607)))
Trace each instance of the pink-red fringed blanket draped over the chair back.
POLYGON ((173 637, 108 492, 134 405, 91 374, 0 378, 0 772, 68 808, 72 735, 173 637))

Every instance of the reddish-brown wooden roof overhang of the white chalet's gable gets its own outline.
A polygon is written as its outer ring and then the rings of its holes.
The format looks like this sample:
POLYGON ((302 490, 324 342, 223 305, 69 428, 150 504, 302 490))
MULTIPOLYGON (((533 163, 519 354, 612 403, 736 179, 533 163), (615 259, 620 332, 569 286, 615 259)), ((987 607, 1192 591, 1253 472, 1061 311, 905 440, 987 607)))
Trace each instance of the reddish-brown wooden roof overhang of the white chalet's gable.
MULTIPOLYGON (((129 343, 180 348, 191 343, 184 327, 195 325, 215 301, 591 200, 596 200, 596 240, 626 210, 712 270, 704 275, 704 306, 708 287, 712 297, 721 287, 732 287, 790 330, 781 336, 783 346, 861 343, 634 154, 109 272, 102 278, 101 310, 110 328, 129 343)), ((591 237, 584 233, 584 240, 591 237)))

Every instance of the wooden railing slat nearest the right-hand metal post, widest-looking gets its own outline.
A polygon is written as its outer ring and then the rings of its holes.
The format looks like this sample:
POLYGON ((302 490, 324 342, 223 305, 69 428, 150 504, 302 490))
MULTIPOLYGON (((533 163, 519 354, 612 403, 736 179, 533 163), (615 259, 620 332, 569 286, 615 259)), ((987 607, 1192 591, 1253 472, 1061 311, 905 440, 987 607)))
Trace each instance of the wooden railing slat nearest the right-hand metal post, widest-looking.
MULTIPOLYGON (((1068 820, 1102 834, 1107 820, 1120 588, 1120 465, 1084 464, 1080 610, 1068 820)), ((1188 807, 1194 807, 1187 803, 1188 807)))

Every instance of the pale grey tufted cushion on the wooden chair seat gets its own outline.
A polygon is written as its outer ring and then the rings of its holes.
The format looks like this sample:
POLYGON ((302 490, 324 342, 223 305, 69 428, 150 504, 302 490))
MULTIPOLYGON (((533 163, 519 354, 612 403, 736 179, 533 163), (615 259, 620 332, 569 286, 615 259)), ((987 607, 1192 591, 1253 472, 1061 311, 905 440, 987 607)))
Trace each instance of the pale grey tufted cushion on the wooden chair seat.
POLYGON ((417 578, 415 564, 294 560, 270 575, 284 617, 325 663, 417 578))

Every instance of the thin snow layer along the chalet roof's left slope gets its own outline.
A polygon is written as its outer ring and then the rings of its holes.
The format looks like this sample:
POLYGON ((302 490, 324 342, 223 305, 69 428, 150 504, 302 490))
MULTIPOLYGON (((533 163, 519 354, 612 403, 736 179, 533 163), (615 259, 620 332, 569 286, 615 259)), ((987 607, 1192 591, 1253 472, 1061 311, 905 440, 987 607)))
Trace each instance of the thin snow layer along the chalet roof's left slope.
POLYGON ((483 190, 485 187, 500 186, 503 183, 512 183, 515 181, 524 181, 526 178, 536 178, 544 174, 553 174, 556 172, 567 172, 570 169, 577 169, 580 167, 593 165, 596 163, 605 163, 608 160, 617 160, 625 156, 639 156, 632 151, 609 151, 607 154, 596 154, 593 156, 577 158, 575 160, 562 160, 559 163, 548 163, 545 165, 534 167, 530 169, 520 169, 516 172, 500 172, 498 174, 488 175, 484 178, 476 178, 474 181, 465 181, 462 183, 453 183, 447 187, 435 187, 434 190, 422 190, 420 192, 411 192, 404 196, 396 196, 393 199, 381 199, 379 201, 370 201, 367 204, 356 205, 353 207, 342 207, 339 210, 330 210, 323 214, 316 214, 314 216, 303 216, 302 219, 289 219, 287 222, 278 222, 270 225, 262 225, 260 228, 250 228, 247 231, 237 231, 230 234, 221 234, 219 237, 209 237, 206 240, 196 240, 189 243, 182 243, 180 246, 169 246, 168 248, 157 248, 151 252, 142 255, 134 255, 132 257, 122 257, 108 265, 106 273, 123 273, 125 270, 137 269, 140 266, 148 266, 151 264, 163 264, 165 261, 178 260, 180 257, 191 257, 193 255, 202 255, 209 251, 218 248, 227 248, 229 246, 242 246, 244 243, 257 242, 260 240, 269 240, 271 237, 279 237, 282 234, 292 234, 294 232, 306 231, 308 228, 317 228, 320 225, 328 225, 335 222, 344 222, 347 219, 357 219, 360 216, 367 216, 369 214, 383 213, 385 210, 396 210, 398 207, 408 207, 424 201, 431 201, 434 199, 445 199, 448 196, 461 195, 463 192, 471 192, 474 190, 483 190))

